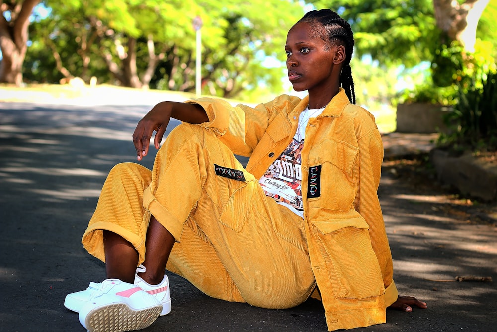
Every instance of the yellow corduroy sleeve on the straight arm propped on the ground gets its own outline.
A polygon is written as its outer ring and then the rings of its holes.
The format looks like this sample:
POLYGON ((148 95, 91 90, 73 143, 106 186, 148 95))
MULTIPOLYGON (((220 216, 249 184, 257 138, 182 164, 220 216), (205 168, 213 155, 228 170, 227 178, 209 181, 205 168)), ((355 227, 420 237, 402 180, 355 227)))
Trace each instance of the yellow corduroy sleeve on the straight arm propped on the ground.
POLYGON ((385 223, 378 199, 383 143, 378 129, 359 138, 359 186, 354 206, 369 225, 373 250, 378 258, 385 286, 385 304, 397 300, 398 292, 393 281, 392 254, 388 244, 385 223))

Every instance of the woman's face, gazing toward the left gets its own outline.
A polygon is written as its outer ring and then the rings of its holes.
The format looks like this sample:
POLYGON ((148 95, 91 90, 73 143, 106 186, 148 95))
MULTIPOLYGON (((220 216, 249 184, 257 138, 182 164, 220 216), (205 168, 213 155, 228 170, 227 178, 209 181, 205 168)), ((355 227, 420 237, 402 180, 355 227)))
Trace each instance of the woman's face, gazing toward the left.
POLYGON ((288 79, 295 91, 309 90, 309 94, 329 94, 339 85, 332 76, 337 46, 332 45, 319 23, 299 22, 288 32, 285 51, 288 79), (312 24, 312 25, 311 25, 312 24))

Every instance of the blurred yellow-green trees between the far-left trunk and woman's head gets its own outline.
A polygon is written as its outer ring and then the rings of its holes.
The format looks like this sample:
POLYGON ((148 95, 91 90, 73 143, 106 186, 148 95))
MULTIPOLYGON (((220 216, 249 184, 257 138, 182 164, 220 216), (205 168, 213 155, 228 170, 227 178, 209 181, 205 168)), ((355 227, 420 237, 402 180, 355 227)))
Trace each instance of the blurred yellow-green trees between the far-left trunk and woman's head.
POLYGON ((49 0, 49 17, 33 24, 25 73, 30 81, 57 82, 67 69, 86 82, 129 84, 136 72, 150 88, 195 89, 194 17, 201 16, 203 93, 235 97, 267 87, 281 90, 288 29, 303 15, 295 1, 49 0), (134 43, 130 43, 133 41, 134 43), (60 57, 59 63, 54 55, 60 57), (136 55, 136 65, 133 55, 136 55), (63 67, 63 68, 61 68, 63 67))

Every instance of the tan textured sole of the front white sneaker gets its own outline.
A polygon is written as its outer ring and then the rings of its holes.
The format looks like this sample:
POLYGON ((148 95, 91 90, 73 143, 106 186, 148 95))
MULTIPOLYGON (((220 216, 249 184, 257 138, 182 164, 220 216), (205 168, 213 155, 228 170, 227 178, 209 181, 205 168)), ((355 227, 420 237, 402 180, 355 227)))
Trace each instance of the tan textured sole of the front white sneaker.
POLYGON ((91 310, 85 318, 90 332, 123 332, 140 330, 155 322, 163 307, 157 305, 134 310, 124 303, 113 303, 91 310))

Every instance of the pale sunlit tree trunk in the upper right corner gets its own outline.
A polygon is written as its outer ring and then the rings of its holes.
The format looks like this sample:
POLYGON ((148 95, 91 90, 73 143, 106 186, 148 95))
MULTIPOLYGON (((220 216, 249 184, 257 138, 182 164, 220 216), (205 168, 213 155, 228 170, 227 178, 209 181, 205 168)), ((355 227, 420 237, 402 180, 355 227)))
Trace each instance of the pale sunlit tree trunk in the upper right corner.
POLYGON ((475 51, 476 28, 490 0, 433 0, 437 26, 451 41, 459 41, 465 50, 475 51))

